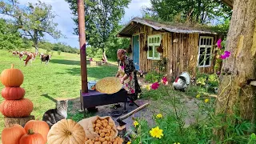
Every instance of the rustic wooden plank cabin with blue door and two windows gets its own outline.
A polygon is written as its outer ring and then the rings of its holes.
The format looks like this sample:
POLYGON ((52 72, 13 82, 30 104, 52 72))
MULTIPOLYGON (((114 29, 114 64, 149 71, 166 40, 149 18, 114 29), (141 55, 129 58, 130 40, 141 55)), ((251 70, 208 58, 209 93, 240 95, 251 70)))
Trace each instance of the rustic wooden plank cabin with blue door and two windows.
POLYGON ((197 67, 202 73, 214 73, 214 48, 220 35, 213 31, 133 18, 117 36, 130 38, 136 70, 154 70, 155 62, 164 58, 171 78, 184 71, 195 75, 197 67))

